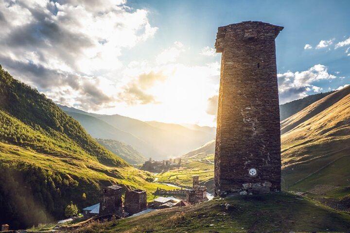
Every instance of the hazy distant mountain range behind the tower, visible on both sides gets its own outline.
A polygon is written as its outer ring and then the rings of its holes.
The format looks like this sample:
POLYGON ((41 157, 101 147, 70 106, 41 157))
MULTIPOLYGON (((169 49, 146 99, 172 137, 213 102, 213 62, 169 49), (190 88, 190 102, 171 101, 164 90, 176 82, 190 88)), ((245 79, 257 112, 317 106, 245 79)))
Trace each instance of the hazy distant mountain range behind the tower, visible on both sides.
MULTIPOLYGON (((292 116, 330 93, 332 92, 319 93, 280 105, 281 119, 292 116)), ((141 121, 118 114, 99 115, 64 105, 58 106, 79 121, 93 137, 120 141, 140 151, 145 157, 157 160, 199 148, 214 139, 216 133, 215 127, 141 121)))

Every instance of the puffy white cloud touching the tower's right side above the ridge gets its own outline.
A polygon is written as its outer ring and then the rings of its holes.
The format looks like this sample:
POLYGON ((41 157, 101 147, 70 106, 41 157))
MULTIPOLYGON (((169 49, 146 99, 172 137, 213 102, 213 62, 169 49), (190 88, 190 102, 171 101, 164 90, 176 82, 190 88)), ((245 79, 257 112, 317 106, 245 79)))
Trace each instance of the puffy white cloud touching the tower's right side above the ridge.
POLYGON ((280 103, 286 103, 297 100, 308 95, 308 92, 314 93, 322 91, 321 87, 314 83, 320 80, 332 80, 336 76, 328 73, 328 68, 324 65, 315 65, 305 71, 288 71, 278 74, 280 103))

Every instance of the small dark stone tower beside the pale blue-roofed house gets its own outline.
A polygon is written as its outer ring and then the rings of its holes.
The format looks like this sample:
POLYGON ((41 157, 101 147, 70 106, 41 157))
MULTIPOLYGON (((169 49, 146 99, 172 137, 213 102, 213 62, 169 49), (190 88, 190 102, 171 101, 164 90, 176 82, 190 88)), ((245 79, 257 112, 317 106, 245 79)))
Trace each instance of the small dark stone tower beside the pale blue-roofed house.
POLYGON ((112 185, 101 190, 100 216, 123 217, 122 187, 112 185))

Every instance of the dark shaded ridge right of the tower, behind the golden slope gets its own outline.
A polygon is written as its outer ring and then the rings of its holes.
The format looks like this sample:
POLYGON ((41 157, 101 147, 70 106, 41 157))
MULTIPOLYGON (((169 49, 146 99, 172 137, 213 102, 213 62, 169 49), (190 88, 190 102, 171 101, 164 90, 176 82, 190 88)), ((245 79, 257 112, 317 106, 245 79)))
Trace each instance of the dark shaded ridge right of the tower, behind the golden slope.
POLYGON ((302 99, 293 100, 291 102, 281 104, 280 105, 280 120, 284 120, 288 118, 289 116, 292 116, 296 114, 297 112, 303 110, 310 104, 314 103, 317 100, 322 99, 325 96, 328 96, 329 94, 333 93, 334 91, 326 92, 326 93, 318 93, 315 95, 310 95, 307 97, 304 97, 302 99))

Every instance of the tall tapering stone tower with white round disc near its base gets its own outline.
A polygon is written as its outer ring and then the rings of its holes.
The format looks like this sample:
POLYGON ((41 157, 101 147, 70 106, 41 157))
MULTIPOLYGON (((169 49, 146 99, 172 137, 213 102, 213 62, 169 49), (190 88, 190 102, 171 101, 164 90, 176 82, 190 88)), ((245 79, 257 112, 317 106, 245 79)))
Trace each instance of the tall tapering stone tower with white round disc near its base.
POLYGON ((222 57, 215 195, 253 187, 280 190, 275 38, 282 29, 257 21, 218 28, 215 48, 222 57))

